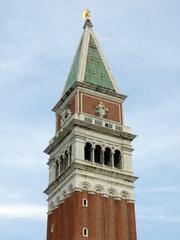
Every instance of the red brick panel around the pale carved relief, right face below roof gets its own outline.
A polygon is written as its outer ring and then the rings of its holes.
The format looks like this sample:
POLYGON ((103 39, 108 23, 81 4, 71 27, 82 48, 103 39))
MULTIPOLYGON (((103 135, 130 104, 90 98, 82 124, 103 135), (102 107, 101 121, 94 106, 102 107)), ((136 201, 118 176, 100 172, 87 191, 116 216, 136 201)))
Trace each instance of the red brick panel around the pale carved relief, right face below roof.
POLYGON ((80 103, 82 112, 96 116, 95 109, 99 105, 100 101, 103 101, 106 108, 108 108, 106 119, 122 123, 122 108, 120 103, 108 101, 107 99, 97 98, 90 95, 84 95, 81 93, 82 103, 80 103))

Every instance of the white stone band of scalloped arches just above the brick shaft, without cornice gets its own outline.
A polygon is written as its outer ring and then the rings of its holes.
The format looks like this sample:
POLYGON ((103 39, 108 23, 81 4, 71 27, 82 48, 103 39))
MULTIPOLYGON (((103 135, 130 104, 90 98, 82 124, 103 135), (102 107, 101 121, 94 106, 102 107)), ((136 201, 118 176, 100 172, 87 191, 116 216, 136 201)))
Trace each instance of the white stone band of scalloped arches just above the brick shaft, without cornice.
POLYGON ((67 175, 67 178, 60 182, 49 195, 48 211, 52 211, 74 191, 101 194, 102 197, 113 197, 116 200, 134 201, 134 186, 132 183, 76 169, 73 173, 67 175))

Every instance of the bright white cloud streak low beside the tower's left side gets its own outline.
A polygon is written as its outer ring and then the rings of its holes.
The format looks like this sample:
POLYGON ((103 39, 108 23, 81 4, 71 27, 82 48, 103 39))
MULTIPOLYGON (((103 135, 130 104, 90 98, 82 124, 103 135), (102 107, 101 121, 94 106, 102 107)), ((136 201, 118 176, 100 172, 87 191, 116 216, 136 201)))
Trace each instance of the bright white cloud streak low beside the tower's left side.
POLYGON ((46 219, 47 208, 38 205, 0 205, 2 218, 46 219))

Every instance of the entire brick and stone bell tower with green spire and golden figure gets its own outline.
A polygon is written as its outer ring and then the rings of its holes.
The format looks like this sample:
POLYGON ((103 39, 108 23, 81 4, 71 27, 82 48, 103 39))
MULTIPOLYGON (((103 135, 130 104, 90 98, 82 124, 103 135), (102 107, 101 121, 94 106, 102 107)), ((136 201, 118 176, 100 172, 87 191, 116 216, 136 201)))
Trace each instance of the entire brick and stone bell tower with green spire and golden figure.
POLYGON ((63 94, 53 108, 47 240, 136 240, 132 145, 123 102, 89 12, 63 94))

